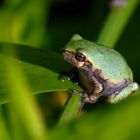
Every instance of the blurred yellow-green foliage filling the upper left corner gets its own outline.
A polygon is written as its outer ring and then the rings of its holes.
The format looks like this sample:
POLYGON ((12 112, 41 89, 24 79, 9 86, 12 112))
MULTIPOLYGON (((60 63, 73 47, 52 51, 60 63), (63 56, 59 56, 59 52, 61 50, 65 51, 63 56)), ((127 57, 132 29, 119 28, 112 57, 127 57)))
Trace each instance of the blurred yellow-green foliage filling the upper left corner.
POLYGON ((0 40, 41 47, 45 39, 50 3, 50 0, 8 0, 3 3, 0 9, 0 40))

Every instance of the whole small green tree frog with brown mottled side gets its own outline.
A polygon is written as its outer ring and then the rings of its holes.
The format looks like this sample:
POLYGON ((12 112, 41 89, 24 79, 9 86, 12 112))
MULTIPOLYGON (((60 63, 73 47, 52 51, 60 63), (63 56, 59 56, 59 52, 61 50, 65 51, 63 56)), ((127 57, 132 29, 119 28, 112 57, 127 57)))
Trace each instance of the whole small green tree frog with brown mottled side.
POLYGON ((105 97, 108 103, 118 103, 139 87, 118 51, 79 34, 73 35, 64 46, 62 56, 77 71, 84 87, 79 94, 84 103, 96 103, 100 97, 105 97))

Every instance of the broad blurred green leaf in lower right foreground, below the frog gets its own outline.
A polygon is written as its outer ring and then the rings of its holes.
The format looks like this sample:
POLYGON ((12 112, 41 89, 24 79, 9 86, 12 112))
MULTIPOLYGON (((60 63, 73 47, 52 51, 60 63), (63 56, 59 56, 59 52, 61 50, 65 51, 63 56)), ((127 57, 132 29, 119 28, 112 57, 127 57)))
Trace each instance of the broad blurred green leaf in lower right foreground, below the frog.
POLYGON ((59 126, 50 133, 53 140, 129 140, 139 139, 140 90, 126 100, 110 104, 92 104, 92 112, 59 126))

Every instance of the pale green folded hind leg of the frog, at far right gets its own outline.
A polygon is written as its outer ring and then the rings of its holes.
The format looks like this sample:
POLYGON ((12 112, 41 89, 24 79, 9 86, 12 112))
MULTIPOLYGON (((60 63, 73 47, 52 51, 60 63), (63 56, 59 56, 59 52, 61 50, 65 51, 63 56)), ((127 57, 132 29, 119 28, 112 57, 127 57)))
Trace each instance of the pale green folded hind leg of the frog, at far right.
POLYGON ((132 92, 136 91, 138 89, 138 84, 133 82, 129 84, 127 87, 123 88, 119 93, 114 93, 110 96, 108 96, 108 102, 109 103, 118 103, 119 101, 126 98, 128 95, 130 95, 132 92))

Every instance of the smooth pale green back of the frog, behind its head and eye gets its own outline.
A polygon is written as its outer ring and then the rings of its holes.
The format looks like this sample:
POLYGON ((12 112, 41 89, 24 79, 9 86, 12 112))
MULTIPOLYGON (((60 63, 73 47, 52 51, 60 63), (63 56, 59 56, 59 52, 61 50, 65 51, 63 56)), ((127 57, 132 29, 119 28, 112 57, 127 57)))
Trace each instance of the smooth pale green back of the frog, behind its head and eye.
POLYGON ((132 71, 120 53, 90 41, 84 40, 82 44, 85 47, 83 53, 92 62, 94 68, 102 71, 105 79, 112 79, 114 83, 121 82, 124 79, 133 80, 132 71), (88 46, 86 47, 86 45, 88 46))

